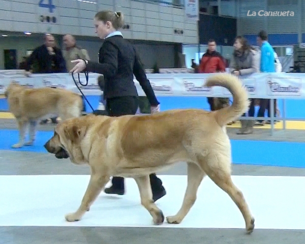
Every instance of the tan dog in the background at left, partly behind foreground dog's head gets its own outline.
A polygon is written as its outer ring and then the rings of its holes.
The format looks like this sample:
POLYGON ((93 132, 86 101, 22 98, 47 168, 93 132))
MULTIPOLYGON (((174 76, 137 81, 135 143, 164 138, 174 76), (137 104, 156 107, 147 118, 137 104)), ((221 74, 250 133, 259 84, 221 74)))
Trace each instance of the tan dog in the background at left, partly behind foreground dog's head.
POLYGON ((82 98, 71 91, 60 88, 25 88, 12 82, 5 91, 9 111, 15 116, 19 129, 19 142, 13 148, 31 146, 35 141, 37 122, 59 116, 62 120, 80 117, 82 98), (25 134, 29 125, 29 141, 25 134))

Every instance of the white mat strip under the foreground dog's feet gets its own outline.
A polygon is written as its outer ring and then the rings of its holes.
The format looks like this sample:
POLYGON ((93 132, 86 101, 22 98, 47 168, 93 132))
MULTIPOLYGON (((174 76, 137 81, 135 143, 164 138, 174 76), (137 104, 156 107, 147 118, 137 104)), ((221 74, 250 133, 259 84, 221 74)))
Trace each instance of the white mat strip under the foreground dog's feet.
MULTIPOLYGON (((167 195, 157 201, 165 217, 174 215, 184 198, 187 176, 160 175, 167 195)), ((305 229, 305 177, 232 176, 255 218, 256 229, 305 229)), ((237 206, 208 177, 181 224, 153 225, 141 206, 138 187, 125 179, 126 195, 101 193, 78 222, 65 214, 79 207, 88 175, 0 176, 0 226, 83 226, 156 228, 241 228, 245 222, 237 206)), ((108 183, 109 185, 109 183, 108 183)))

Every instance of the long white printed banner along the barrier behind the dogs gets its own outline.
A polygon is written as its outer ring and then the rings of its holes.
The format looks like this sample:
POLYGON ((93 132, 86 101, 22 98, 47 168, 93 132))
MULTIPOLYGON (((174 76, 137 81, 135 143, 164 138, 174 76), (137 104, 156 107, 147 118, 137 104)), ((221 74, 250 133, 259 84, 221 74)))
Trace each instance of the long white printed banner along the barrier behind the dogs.
MULTIPOLYGON (((223 87, 205 87, 205 80, 215 74, 147 74, 151 87, 157 96, 202 96, 202 97, 232 97, 231 93, 223 87)), ((89 73, 87 86, 85 75, 80 74, 74 78, 85 95, 101 95, 98 86, 99 74, 89 73)), ((60 87, 80 94, 72 75, 58 74, 32 74, 25 77, 19 70, 0 70, 0 95, 3 95, 12 80, 23 86, 31 88, 60 87)), ((249 98, 284 98, 305 99, 305 73, 255 73, 241 78, 248 90, 249 98)), ((134 79, 139 96, 145 96, 139 82, 134 79)))

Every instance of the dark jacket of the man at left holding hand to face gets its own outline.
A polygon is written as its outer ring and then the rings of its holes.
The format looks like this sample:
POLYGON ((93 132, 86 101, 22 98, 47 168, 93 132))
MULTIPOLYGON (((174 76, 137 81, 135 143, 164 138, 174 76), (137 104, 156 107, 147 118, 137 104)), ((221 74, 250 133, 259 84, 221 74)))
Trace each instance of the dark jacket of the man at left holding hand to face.
POLYGON ((41 45, 34 49, 31 56, 26 60, 25 70, 31 69, 31 65, 37 62, 38 70, 36 73, 65 73, 67 72, 66 61, 62 50, 54 47, 55 69, 52 70, 52 60, 46 45, 41 45))

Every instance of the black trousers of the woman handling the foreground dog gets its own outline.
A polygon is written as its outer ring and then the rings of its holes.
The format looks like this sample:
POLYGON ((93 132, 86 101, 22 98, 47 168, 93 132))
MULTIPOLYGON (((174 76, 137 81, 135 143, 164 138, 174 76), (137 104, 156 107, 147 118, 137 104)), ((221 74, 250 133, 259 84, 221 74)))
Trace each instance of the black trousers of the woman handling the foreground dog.
MULTIPOLYGON (((139 99, 135 96, 124 96, 106 99, 106 111, 109 116, 135 115, 139 106, 139 99)), ((162 181, 156 174, 149 175, 152 191, 158 191, 162 187, 162 181)), ((123 177, 113 177, 114 188, 124 188, 123 177)))

